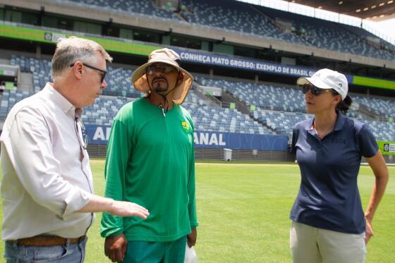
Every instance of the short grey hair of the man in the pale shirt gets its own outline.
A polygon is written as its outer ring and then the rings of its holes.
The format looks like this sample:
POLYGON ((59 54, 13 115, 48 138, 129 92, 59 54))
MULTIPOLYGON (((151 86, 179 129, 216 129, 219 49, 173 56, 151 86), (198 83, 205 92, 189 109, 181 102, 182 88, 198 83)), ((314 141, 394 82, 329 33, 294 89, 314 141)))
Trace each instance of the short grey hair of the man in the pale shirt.
POLYGON ((63 71, 70 68, 75 61, 90 62, 96 61, 96 52, 99 51, 106 61, 111 62, 112 58, 97 44, 97 42, 80 37, 69 37, 61 39, 56 44, 54 57, 52 58, 52 79, 61 78, 63 71))

